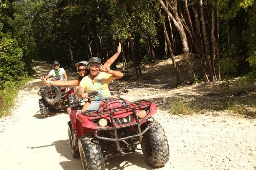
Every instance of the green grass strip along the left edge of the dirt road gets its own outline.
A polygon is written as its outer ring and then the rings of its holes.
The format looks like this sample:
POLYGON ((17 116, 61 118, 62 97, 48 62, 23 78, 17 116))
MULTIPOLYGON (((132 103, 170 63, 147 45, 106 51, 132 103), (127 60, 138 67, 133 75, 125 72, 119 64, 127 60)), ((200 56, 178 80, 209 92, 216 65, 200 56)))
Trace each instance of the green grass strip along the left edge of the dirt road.
POLYGON ((0 86, 0 118, 10 114, 9 111, 13 107, 19 89, 31 79, 27 77, 19 82, 8 81, 0 86))

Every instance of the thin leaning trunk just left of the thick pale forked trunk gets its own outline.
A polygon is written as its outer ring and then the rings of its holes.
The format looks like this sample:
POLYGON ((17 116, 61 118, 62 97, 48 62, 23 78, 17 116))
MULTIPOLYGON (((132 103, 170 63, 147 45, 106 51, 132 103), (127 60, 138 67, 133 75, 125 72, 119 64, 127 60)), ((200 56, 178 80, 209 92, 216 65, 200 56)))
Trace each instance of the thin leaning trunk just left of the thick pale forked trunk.
MULTIPOLYGON (((158 14, 159 14, 159 17, 161 19, 162 18, 162 14, 161 14, 160 10, 158 11, 158 14)), ((174 53, 173 53, 173 50, 172 50, 172 46, 171 46, 171 42, 170 42, 170 39, 169 39, 169 35, 168 35, 167 29, 166 29, 166 26, 165 26, 165 22, 162 21, 162 24, 163 24, 163 28, 164 28, 164 32, 165 32, 165 37, 166 37, 167 45, 168 45, 168 48, 169 48, 169 51, 170 51, 170 55, 171 55, 172 61, 173 61, 173 67, 174 67, 174 73, 175 73, 175 76, 176 76, 176 82, 179 82, 180 81, 180 76, 179 76, 179 72, 178 72, 178 69, 177 69, 177 66, 176 66, 176 62, 175 62, 175 59, 174 59, 174 53)))

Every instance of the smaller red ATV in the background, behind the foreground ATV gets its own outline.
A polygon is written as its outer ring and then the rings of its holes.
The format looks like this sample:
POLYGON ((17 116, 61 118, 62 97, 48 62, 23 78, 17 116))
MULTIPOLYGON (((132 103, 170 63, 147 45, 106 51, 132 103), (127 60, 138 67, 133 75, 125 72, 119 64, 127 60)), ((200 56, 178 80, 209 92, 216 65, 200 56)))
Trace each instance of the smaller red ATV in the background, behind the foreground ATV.
MULTIPOLYGON (((37 94, 42 97, 39 99, 41 118, 46 118, 49 116, 50 110, 67 106, 69 101, 72 102, 75 91, 70 87, 47 86, 40 88, 37 94)), ((71 105, 69 104, 69 106, 71 105)))

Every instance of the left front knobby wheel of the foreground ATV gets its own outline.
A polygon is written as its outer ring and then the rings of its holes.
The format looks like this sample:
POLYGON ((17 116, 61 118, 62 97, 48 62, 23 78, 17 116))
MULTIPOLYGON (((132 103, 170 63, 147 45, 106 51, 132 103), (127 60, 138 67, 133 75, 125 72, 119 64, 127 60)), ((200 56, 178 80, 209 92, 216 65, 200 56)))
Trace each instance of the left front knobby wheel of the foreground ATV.
POLYGON ((105 170, 98 139, 92 135, 83 135, 78 142, 78 147, 84 170, 105 170))

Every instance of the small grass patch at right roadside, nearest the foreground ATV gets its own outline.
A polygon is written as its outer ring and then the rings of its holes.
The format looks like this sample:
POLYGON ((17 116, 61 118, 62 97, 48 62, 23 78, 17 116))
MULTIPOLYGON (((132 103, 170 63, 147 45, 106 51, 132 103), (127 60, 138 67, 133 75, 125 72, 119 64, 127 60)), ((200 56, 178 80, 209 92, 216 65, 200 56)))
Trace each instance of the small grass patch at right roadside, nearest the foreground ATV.
POLYGON ((197 111, 197 106, 184 101, 170 101, 168 109, 174 115, 191 115, 197 111))

